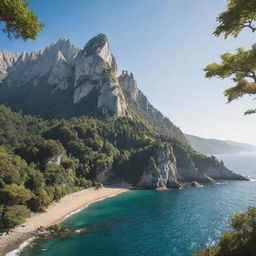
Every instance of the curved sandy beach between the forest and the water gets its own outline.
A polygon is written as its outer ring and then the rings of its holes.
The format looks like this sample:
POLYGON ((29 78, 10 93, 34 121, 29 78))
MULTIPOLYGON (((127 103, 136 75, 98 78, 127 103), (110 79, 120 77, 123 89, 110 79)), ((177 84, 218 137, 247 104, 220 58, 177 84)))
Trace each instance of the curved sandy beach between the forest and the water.
POLYGON ((40 226, 48 227, 61 222, 69 214, 86 207, 88 204, 128 191, 127 187, 89 188, 63 197, 58 203, 52 203, 46 212, 31 216, 26 223, 17 226, 8 235, 0 238, 0 255, 5 255, 19 247, 24 241, 33 236, 40 226))

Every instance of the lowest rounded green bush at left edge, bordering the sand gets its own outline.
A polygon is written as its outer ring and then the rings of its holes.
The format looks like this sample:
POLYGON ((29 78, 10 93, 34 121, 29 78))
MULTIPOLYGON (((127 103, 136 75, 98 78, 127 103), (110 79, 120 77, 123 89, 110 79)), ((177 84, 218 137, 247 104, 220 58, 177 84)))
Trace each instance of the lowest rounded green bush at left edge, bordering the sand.
POLYGON ((3 209, 0 227, 11 228, 23 223, 29 216, 29 209, 24 205, 13 205, 3 209))

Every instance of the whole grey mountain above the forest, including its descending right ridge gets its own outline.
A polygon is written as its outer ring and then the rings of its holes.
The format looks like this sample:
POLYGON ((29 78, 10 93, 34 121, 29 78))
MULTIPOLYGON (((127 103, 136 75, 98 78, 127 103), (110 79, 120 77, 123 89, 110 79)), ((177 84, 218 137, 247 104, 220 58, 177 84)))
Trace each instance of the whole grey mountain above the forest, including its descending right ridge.
POLYGON ((105 35, 92 38, 82 50, 60 39, 17 56, 5 69, 1 104, 46 118, 83 114, 137 118, 159 133, 186 141, 181 130, 149 103, 132 74, 123 71, 118 76, 105 35))

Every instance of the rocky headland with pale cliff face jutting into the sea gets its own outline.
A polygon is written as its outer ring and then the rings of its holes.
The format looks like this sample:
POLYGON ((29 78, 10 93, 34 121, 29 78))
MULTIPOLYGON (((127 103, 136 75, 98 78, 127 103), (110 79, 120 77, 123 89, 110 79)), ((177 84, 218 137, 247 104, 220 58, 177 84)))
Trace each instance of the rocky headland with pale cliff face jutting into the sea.
POLYGON ((187 182, 247 180, 214 157, 199 154, 180 142, 163 140, 135 152, 114 171, 126 182, 145 189, 180 188, 187 182))

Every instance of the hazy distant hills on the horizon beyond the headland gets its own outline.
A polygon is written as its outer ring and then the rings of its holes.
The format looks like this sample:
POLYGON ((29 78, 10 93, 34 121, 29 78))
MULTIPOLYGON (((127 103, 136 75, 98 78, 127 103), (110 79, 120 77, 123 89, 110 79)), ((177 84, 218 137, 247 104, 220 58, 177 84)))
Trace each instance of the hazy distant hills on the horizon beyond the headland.
POLYGON ((205 139, 185 134, 190 145, 198 152, 206 155, 235 154, 256 151, 256 146, 234 141, 205 139))

